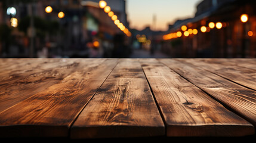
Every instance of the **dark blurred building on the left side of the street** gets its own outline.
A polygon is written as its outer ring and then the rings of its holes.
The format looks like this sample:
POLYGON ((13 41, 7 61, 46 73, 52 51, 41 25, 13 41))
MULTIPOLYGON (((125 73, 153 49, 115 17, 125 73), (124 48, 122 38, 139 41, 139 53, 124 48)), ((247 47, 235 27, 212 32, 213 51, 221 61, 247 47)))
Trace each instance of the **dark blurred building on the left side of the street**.
MULTIPOLYGON (((111 17, 98 6, 99 1, 38 0, 0 2, 0 23, 11 29, 10 41, 0 41, 1 57, 112 57, 115 36, 128 38, 111 17), (45 8, 51 6, 51 13, 45 8), (15 7, 17 27, 11 27, 8 7, 15 7), (62 11, 64 17, 58 17, 62 11), (33 15, 33 18, 30 18, 33 15), (32 23, 33 20, 33 23, 32 23), (33 26, 32 26, 33 24, 33 26), (32 29, 33 27, 33 29, 32 29)), ((107 1, 118 19, 128 27, 125 1, 107 1)), ((124 49, 124 48, 122 48, 124 49)), ((125 53, 126 51, 121 51, 125 53)))

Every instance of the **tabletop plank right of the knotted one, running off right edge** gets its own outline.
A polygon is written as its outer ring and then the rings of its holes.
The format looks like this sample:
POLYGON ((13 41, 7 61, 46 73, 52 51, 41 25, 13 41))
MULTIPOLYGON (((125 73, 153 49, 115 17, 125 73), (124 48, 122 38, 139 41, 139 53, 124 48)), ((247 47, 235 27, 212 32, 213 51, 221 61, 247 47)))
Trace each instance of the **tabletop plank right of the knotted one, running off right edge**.
POLYGON ((256 92, 254 90, 192 64, 168 59, 159 59, 159 61, 256 126, 256 92))

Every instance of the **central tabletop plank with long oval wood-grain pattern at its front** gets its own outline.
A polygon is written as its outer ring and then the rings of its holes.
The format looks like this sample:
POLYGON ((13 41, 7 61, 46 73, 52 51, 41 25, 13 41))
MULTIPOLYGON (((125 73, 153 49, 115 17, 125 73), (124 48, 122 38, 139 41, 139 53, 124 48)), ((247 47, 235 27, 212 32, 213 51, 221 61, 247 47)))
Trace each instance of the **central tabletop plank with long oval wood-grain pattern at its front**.
POLYGON ((71 129, 71 138, 165 135, 164 122, 140 63, 120 60, 71 129))

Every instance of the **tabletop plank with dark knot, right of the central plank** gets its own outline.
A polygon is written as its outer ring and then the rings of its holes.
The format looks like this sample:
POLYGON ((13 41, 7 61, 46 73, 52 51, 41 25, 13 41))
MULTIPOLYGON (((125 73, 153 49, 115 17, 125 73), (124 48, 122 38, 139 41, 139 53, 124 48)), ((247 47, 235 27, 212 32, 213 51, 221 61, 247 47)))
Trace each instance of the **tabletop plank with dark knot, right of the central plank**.
POLYGON ((251 123, 155 59, 140 60, 164 116, 167 136, 245 136, 251 123))

